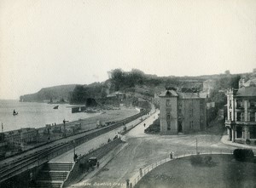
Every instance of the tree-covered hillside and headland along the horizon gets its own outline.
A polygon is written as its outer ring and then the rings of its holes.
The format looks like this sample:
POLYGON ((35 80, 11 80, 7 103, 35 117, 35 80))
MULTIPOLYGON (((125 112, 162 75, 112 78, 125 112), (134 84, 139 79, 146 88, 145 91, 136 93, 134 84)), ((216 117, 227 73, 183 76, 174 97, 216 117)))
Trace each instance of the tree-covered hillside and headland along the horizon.
MULTIPOLYGON (((88 99, 104 101, 108 94, 120 91, 136 98, 149 100, 154 94, 159 94, 166 88, 196 88, 201 91, 203 82, 212 79, 216 80, 218 91, 226 88, 237 88, 237 81, 240 77, 251 77, 252 73, 203 75, 197 77, 157 77, 156 75, 145 74, 143 71, 132 69, 122 71, 114 69, 109 71, 110 78, 103 83, 91 83, 89 85, 62 85, 50 88, 42 88, 36 94, 20 96, 21 101, 61 100, 71 103, 84 104, 88 99), (235 87, 234 87, 235 86, 235 87)), ((218 97, 217 97, 218 98, 218 97)), ((222 105, 222 104, 221 104, 222 105)))

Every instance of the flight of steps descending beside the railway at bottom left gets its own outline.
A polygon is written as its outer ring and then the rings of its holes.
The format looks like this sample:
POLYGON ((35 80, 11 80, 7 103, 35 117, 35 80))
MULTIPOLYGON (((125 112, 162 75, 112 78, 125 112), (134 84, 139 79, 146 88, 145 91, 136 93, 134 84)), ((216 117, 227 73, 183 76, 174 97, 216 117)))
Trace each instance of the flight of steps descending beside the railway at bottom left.
POLYGON ((61 188, 64 180, 73 167, 73 163, 49 162, 39 172, 31 188, 61 188))

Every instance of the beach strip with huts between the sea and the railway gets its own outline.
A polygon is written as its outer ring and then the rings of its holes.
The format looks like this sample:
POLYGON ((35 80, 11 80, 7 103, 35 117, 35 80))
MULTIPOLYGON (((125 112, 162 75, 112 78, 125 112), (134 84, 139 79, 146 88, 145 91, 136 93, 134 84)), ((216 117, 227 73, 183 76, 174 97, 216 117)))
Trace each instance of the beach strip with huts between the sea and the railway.
MULTIPOLYGON (((15 131, 3 132, 5 134, 5 142, 10 144, 14 144, 16 146, 20 145, 20 149, 22 151, 28 151, 33 148, 37 148, 38 146, 47 145, 56 140, 61 140, 68 138, 70 136, 74 136, 77 134, 83 134, 90 130, 96 129, 96 122, 101 121, 104 122, 118 122, 127 117, 134 116, 138 114, 135 108, 121 108, 121 110, 108 110, 105 113, 97 113, 95 116, 83 118, 80 120, 75 120, 72 122, 67 122, 66 126, 63 123, 56 124, 54 126, 49 127, 41 127, 41 128, 32 128, 26 129, 24 128, 21 132, 20 129, 15 131), (10 134, 10 132, 13 132, 10 134), (17 140, 17 137, 20 138, 17 140), (14 140, 15 138, 15 140, 14 140)), ((7 151, 9 152, 9 151, 7 151)), ((20 153, 20 151, 18 152, 20 153)), ((16 151, 10 151, 5 157, 15 156, 16 151)))

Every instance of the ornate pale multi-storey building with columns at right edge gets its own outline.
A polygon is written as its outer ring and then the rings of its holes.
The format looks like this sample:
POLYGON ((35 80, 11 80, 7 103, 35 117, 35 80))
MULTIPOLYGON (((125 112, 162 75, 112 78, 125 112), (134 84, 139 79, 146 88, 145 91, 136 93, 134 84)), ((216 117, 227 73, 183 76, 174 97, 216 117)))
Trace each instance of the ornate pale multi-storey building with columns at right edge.
POLYGON ((256 141, 256 87, 229 89, 227 92, 228 117, 225 127, 229 140, 239 143, 256 141))

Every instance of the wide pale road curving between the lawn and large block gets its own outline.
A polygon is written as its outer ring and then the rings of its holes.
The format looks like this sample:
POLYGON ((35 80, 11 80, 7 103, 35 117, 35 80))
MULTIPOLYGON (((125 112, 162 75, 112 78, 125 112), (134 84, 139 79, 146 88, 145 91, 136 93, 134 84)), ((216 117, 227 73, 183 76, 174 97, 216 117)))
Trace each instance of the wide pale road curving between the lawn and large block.
MULTIPOLYGON (((146 128, 154 121, 155 117, 157 115, 153 114, 145 121, 146 128)), ((139 168, 165 159, 170 151, 174 151, 175 155, 195 153, 196 140, 200 152, 231 152, 237 148, 232 145, 224 145, 220 141, 221 135, 218 134, 144 134, 143 123, 138 124, 136 128, 131 129, 125 135, 128 144, 96 176, 90 179, 85 177, 79 184, 72 187, 125 187, 125 179, 130 179, 139 171, 139 168)))

